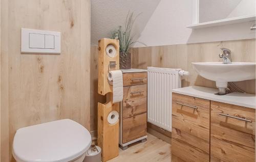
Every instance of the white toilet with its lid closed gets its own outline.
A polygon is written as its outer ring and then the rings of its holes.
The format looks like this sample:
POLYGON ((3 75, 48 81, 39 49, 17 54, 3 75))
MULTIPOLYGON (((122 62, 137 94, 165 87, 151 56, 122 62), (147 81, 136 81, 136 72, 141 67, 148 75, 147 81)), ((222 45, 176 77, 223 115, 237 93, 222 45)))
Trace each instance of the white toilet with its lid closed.
POLYGON ((63 119, 18 129, 12 154, 17 162, 82 162, 91 142, 86 128, 63 119))

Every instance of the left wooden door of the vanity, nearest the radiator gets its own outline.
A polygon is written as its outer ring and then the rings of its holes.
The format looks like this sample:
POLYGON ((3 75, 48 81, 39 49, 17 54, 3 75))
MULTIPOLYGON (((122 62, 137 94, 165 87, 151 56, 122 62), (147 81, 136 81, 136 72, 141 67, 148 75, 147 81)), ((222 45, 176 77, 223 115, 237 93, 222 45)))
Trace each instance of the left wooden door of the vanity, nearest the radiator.
POLYGON ((209 161, 210 101, 173 93, 172 161, 209 161))

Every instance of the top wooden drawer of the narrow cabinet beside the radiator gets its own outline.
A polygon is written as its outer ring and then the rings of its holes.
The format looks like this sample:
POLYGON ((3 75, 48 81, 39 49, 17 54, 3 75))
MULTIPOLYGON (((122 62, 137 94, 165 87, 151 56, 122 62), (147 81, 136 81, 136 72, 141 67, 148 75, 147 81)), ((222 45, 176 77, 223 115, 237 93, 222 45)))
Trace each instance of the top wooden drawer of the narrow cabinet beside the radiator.
POLYGON ((147 72, 123 73, 123 86, 142 85, 147 83, 147 72))

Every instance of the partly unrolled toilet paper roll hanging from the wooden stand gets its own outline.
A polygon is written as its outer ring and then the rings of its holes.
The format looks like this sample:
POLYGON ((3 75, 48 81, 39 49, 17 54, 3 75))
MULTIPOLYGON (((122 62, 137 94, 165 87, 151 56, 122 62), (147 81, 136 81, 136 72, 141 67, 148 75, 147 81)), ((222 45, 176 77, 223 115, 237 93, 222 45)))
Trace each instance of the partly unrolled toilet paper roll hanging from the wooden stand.
POLYGON ((121 70, 109 72, 108 79, 113 82, 113 103, 123 100, 123 73, 121 70))

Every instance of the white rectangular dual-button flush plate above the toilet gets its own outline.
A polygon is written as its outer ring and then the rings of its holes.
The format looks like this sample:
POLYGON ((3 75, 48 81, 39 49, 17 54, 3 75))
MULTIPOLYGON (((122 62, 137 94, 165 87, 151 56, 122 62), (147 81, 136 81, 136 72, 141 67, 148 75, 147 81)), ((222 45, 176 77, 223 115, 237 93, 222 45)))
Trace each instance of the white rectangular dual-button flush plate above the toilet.
POLYGON ((22 53, 60 53, 60 32, 22 28, 22 53))

